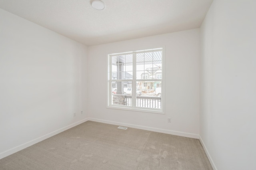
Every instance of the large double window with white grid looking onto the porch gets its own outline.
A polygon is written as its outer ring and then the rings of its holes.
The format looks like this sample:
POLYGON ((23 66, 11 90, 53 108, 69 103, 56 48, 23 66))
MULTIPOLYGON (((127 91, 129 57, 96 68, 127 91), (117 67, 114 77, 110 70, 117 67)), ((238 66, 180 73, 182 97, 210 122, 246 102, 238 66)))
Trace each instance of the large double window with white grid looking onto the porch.
POLYGON ((163 113, 163 59, 163 48, 109 54, 108 107, 163 113))

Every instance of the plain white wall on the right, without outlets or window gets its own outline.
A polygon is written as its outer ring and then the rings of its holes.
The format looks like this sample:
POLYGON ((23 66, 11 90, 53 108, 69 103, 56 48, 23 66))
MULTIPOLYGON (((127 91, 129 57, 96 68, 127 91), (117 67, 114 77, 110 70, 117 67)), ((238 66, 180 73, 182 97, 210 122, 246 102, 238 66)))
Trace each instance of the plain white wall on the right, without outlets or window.
POLYGON ((201 26, 200 138, 218 170, 256 169, 255 8, 214 0, 201 26))

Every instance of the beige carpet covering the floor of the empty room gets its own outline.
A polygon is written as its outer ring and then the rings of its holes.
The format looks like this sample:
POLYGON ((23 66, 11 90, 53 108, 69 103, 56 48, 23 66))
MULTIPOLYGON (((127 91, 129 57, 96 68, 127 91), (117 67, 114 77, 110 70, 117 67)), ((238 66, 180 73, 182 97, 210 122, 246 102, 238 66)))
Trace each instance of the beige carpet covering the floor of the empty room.
POLYGON ((212 170, 198 139, 87 121, 0 160, 1 170, 212 170))

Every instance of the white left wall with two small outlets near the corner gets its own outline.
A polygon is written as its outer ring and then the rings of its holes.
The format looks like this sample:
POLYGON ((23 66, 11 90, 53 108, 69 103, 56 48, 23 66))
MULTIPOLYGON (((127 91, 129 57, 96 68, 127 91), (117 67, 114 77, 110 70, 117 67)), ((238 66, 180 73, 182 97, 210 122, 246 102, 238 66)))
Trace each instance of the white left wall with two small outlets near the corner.
POLYGON ((86 55, 86 46, 0 9, 0 158, 87 117, 86 55))

